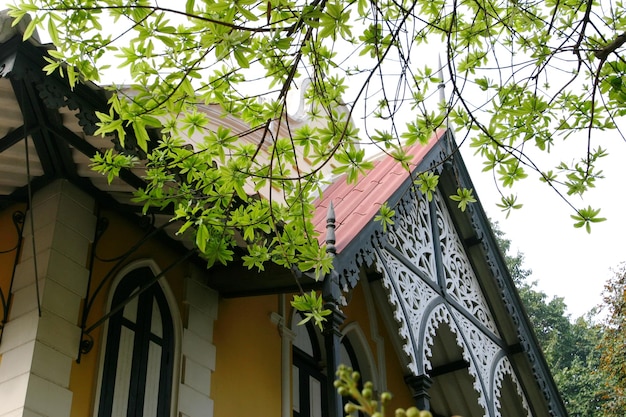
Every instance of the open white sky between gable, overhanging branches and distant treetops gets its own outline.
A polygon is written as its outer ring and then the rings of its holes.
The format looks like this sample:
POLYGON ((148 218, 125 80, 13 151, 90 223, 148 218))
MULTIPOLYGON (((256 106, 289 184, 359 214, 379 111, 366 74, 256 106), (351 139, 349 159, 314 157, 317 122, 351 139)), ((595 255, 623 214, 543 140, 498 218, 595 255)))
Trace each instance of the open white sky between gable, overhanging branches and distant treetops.
MULTIPOLYGON (((0 9, 7 3, 0 0, 0 9)), ((591 234, 574 228, 571 209, 536 178, 527 178, 513 191, 524 206, 505 218, 496 207, 500 196, 490 174, 481 172, 482 161, 467 145, 461 148, 488 216, 499 223, 514 253, 524 255, 524 267, 532 270, 530 279, 537 281, 537 288, 549 298, 563 297, 572 319, 601 303, 603 286, 612 276, 611 268, 626 261, 622 249, 626 216, 621 210, 626 144, 611 133, 602 138, 605 140, 603 147, 608 147, 610 153, 603 166, 606 178, 589 192, 586 201, 573 200, 577 207, 601 208, 601 215, 607 218, 606 222, 594 224, 591 234)))

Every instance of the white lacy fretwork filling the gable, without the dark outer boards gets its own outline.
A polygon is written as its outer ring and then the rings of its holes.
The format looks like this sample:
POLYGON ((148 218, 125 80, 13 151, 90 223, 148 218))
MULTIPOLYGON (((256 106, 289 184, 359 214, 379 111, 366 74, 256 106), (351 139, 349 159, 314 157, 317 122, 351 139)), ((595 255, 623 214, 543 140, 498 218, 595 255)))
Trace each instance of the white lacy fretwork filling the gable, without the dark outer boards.
MULTIPOLYGON (((431 348, 439 325, 446 323, 469 364, 480 406, 495 417, 502 385, 497 364, 505 356, 505 343, 441 195, 430 203, 421 194, 411 197, 400 201, 394 227, 374 248, 408 367, 414 375, 432 370, 431 348)), ((519 380, 510 366, 506 369, 532 415, 519 380)))

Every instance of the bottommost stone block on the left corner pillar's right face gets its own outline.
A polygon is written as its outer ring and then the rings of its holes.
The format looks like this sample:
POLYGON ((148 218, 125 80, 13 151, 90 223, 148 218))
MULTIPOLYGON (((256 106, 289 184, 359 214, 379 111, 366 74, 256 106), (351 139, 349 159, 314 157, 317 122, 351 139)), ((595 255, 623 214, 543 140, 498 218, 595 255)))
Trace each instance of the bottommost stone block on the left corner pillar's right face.
POLYGON ((26 403, 28 409, 35 413, 48 417, 67 417, 72 408, 72 392, 31 374, 26 403))

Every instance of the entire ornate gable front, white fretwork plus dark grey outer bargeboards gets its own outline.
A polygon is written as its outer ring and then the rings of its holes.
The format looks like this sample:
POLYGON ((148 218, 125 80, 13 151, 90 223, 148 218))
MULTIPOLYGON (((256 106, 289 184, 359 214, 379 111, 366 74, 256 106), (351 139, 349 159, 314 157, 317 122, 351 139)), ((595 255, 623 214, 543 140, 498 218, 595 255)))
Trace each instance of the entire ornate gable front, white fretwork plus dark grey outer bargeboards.
MULTIPOLYGON (((417 170, 437 170, 442 175, 440 189, 445 188, 442 185, 444 178, 450 183, 446 187, 472 188, 462 160, 450 157, 454 152, 448 148, 454 146, 451 134, 446 133, 417 170)), ((503 375, 510 375, 516 390, 525 393, 519 376, 515 374, 516 365, 507 358, 507 352, 524 352, 550 415, 564 414, 563 404, 482 208, 470 205, 464 213, 465 221, 471 223, 473 244, 480 248, 483 257, 480 262, 492 275, 490 280, 497 286, 502 305, 516 326, 517 346, 507 346, 500 336, 501 329, 492 317, 489 303, 464 249, 467 242, 457 233, 444 198, 438 195, 434 201, 428 202, 413 187, 411 179, 407 179, 389 199, 389 204, 396 210, 392 230, 384 233, 380 224, 372 221, 337 255, 335 268, 344 288, 347 290, 357 284, 363 268, 371 270, 373 267, 380 273, 399 326, 399 335, 404 340, 403 350, 408 367, 414 375, 422 375, 429 369, 427 346, 432 344, 428 345, 425 339, 428 320, 424 317, 444 305, 457 328, 462 329, 459 332, 469 335, 462 337, 463 346, 468 349, 472 343, 485 346, 485 352, 474 354, 474 358, 470 355, 473 360, 470 366, 474 366, 472 376, 482 390, 478 391, 479 395, 484 394, 484 404, 481 405, 491 410, 486 415, 498 415, 503 375), (508 363, 504 368, 503 360, 508 363), (479 365, 481 362, 482 366, 479 365), (485 363, 490 363, 490 366, 485 363), (503 373, 502 369, 506 372, 503 373)), ((529 406, 526 396, 522 394, 523 408, 532 415, 534 407, 532 404, 529 406)))

